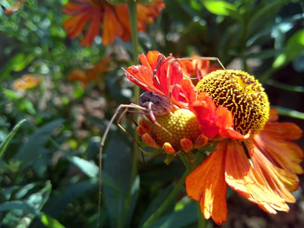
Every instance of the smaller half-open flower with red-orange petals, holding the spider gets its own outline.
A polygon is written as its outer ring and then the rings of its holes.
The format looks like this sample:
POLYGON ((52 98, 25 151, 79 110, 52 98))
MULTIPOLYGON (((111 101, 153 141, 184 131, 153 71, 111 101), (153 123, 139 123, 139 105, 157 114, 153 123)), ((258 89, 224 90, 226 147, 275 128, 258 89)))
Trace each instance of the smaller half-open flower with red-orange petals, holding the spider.
POLYGON ((137 127, 138 134, 143 141, 155 148, 162 148, 167 154, 175 151, 188 152, 193 148, 201 148, 206 145, 208 138, 219 134, 223 137, 229 136, 234 139, 246 139, 247 135, 242 135, 233 129, 232 113, 224 107, 217 107, 207 94, 200 94, 196 99, 196 91, 188 80, 183 80, 182 69, 178 62, 169 62, 173 57, 165 58, 158 51, 150 51, 147 55, 139 55, 142 65, 131 66, 125 71, 126 77, 144 89, 169 97, 171 86, 181 85, 172 89, 170 102, 175 104, 175 108, 167 115, 157 116, 157 121, 162 127, 147 124, 141 121, 137 127), (167 71, 169 78, 167 82, 167 71), (154 77, 155 74, 155 77, 154 77), (183 94, 182 94, 183 93, 183 94), (189 109, 185 101, 189 102, 189 109), (195 117, 195 115, 198 115, 195 117), (202 116, 202 118, 198 118, 202 116), (178 124, 175 123, 178 120, 178 124), (199 122, 198 122, 199 121, 199 122), (201 122, 200 122, 201 121, 201 122), (169 131, 171 135, 164 132, 169 131), (203 134, 202 134, 203 133, 203 134), (206 137, 207 136, 207 137, 206 137))

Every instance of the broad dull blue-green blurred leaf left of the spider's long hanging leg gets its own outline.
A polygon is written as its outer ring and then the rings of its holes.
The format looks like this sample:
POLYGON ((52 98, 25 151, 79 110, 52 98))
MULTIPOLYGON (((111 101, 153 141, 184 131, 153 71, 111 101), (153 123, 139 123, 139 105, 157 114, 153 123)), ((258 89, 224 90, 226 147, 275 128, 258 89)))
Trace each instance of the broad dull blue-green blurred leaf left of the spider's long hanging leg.
POLYGON ((22 161, 21 170, 32 165, 41 156, 41 150, 45 143, 50 139, 53 131, 63 123, 62 119, 51 121, 36 130, 28 141, 20 148, 15 155, 15 159, 22 161))

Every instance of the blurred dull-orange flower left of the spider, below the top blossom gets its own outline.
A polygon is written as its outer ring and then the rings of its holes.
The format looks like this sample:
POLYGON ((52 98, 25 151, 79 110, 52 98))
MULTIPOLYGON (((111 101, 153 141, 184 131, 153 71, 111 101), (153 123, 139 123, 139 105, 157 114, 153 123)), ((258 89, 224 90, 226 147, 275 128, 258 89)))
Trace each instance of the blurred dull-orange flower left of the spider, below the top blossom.
POLYGON ((100 77, 98 76, 103 75, 108 70, 110 70, 109 58, 106 57, 95 63, 92 69, 86 71, 83 69, 72 70, 67 75, 67 79, 71 82, 82 82, 83 87, 86 88, 90 81, 93 81, 94 84, 98 84, 100 82, 100 77))

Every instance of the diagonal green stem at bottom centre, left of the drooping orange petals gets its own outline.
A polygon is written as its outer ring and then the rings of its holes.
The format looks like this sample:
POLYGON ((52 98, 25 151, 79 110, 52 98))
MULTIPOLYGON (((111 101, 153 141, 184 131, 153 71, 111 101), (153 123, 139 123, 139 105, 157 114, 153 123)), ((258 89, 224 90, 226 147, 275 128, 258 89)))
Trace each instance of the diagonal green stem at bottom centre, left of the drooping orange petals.
POLYGON ((143 223, 142 228, 150 227, 164 213, 164 211, 170 205, 172 200, 176 199, 176 196, 179 193, 180 189, 182 188, 187 175, 188 175, 188 170, 184 172, 184 174, 182 175, 182 177, 174 187, 173 191, 166 198, 163 204, 145 221, 145 223, 143 223))

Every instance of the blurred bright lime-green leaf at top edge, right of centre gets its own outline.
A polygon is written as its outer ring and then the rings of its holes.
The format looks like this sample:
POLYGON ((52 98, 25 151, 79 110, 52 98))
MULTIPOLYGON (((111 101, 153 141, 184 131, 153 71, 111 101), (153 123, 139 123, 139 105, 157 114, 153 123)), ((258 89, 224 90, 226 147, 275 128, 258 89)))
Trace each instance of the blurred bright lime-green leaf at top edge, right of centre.
POLYGON ((237 12, 236 6, 220 0, 202 0, 204 7, 211 13, 216 15, 231 16, 235 19, 241 19, 237 12))

